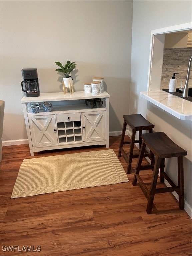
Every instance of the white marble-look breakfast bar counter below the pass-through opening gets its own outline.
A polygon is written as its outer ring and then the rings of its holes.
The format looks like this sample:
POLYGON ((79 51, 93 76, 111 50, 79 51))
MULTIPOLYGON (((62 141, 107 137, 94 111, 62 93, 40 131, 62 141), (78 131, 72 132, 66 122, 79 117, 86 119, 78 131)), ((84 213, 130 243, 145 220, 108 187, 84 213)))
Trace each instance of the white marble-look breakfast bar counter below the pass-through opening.
POLYGON ((192 120, 192 102, 188 100, 161 90, 140 92, 140 96, 179 119, 192 120))

